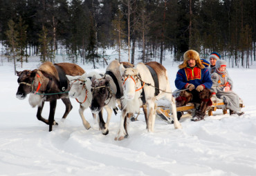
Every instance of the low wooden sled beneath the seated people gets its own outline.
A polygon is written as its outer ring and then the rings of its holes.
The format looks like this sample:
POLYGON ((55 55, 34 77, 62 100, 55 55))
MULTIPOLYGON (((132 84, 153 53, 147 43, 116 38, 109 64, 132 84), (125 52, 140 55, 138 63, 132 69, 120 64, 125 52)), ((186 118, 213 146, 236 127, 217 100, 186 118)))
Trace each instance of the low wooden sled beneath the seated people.
MULTIPOLYGON (((227 114, 228 113, 228 109, 226 109, 225 104, 223 102, 223 99, 214 99, 212 98, 212 106, 210 106, 210 108, 208 109, 208 116, 212 115, 213 111, 216 111, 217 109, 222 109, 223 114, 227 114)), ((244 108, 244 102, 240 99, 239 102, 239 107, 240 108, 244 108)), ((186 106, 181 106, 181 107, 177 107, 176 108, 177 112, 181 111, 181 112, 187 112, 187 113, 183 113, 183 117, 192 117, 192 113, 195 110, 194 104, 192 103, 188 103, 186 106)), ((161 119, 166 119, 167 121, 171 121, 171 115, 170 115, 170 109, 169 107, 165 107, 165 106, 158 106, 157 110, 156 110, 156 115, 158 117, 161 117, 161 119)))

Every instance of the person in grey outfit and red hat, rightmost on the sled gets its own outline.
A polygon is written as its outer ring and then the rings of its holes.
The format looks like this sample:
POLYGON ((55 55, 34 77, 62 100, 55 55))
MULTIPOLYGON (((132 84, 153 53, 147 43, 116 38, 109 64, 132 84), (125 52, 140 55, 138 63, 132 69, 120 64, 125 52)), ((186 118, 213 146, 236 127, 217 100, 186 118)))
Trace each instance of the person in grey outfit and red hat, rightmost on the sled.
POLYGON ((237 114, 243 115, 239 108, 239 96, 232 91, 233 82, 226 72, 227 63, 224 60, 216 62, 216 70, 212 73, 212 95, 223 99, 226 108, 230 109, 230 115, 237 114))

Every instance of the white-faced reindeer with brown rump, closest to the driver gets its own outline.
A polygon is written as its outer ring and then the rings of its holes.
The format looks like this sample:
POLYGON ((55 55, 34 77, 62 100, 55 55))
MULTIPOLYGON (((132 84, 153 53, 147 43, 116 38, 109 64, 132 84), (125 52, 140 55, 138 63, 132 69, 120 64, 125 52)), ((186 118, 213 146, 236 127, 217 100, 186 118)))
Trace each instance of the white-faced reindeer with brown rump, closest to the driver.
POLYGON ((174 127, 181 128, 176 116, 176 104, 175 99, 172 97, 172 90, 167 77, 167 70, 155 61, 149 63, 138 63, 135 68, 124 68, 120 65, 120 74, 122 77, 122 88, 124 96, 121 99, 122 114, 120 119, 120 128, 115 139, 121 140, 126 137, 127 129, 125 122, 125 115, 127 113, 138 113, 140 106, 143 105, 143 101, 140 99, 141 93, 145 92, 145 104, 147 105, 147 130, 149 132, 154 131, 154 123, 156 119, 156 103, 158 99, 165 99, 170 101, 172 105, 172 113, 174 117, 174 127), (158 77, 159 94, 155 96, 155 83, 149 68, 151 67, 158 77), (152 86, 149 86, 151 84, 152 86), (163 90, 163 91, 162 91, 163 90))

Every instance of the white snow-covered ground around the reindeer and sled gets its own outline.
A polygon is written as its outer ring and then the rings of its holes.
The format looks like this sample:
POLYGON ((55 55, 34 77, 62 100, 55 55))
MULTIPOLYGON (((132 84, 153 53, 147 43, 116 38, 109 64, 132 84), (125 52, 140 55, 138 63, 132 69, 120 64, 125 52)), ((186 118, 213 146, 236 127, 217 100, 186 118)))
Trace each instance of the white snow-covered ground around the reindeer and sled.
MULTIPOLYGON (((114 141, 120 112, 111 117, 109 135, 104 136, 89 109, 84 114, 92 128, 85 130, 75 99, 71 99, 73 110, 65 121, 61 120, 64 104, 57 101, 59 126, 49 133, 48 126, 37 120, 37 108, 30 107, 28 98, 16 98, 18 84, 12 64, 4 59, 0 63, 0 176, 256 175, 255 66, 228 68, 234 90, 246 106, 241 117, 217 110, 204 121, 182 119, 180 130, 156 119, 154 133, 147 133, 144 115, 140 115, 138 121, 130 122, 129 137, 114 141)), ((173 90, 178 64, 168 59, 163 64, 173 90)), ((31 61, 21 68, 18 63, 17 70, 37 66, 38 62, 31 61)), ((80 66, 86 72, 93 70, 91 65, 80 66)), ((104 68, 96 71, 104 72, 104 68)), ((47 102, 43 117, 48 118, 48 112, 47 102)))

